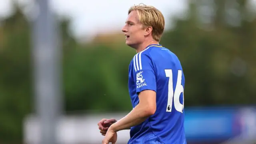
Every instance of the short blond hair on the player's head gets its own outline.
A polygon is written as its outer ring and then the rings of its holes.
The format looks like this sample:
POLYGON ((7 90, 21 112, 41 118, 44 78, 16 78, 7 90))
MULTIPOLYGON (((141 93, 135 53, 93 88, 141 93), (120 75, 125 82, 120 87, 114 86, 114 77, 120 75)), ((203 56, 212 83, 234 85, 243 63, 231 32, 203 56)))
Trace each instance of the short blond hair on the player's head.
POLYGON ((138 4, 130 7, 128 14, 133 10, 136 10, 139 20, 144 26, 152 27, 152 37, 154 40, 160 42, 165 24, 162 12, 154 6, 147 6, 145 4, 138 4))

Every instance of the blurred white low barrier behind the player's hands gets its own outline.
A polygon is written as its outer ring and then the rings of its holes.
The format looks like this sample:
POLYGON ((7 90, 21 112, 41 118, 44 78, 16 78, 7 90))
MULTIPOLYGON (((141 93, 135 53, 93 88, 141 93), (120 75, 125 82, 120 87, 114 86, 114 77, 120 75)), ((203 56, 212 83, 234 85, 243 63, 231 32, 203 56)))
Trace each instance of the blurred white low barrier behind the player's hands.
MULTIPOLYGON (((102 118, 120 119, 126 113, 120 114, 86 114, 63 116, 60 118, 57 129, 57 141, 60 144, 100 144, 104 138, 98 129, 98 122, 102 118)), ((24 120, 24 143, 39 144, 40 126, 38 118, 28 116, 24 120)), ((127 143, 130 138, 130 130, 118 132, 118 144, 127 143)))

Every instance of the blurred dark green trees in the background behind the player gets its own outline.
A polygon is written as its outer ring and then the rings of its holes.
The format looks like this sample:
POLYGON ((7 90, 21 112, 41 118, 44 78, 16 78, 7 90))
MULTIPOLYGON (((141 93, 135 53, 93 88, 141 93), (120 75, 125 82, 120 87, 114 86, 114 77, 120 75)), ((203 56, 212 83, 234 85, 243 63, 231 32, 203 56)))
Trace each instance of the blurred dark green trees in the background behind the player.
MULTIPOLYGON (((185 18, 175 18, 160 44, 174 52, 186 78, 185 108, 241 106, 256 102, 256 10, 246 0, 215 0, 216 14, 203 12, 204 1, 190 4, 185 18), (202 10, 202 11, 200 11, 202 10)), ((64 110, 123 112, 132 108, 128 65, 136 51, 122 33, 98 35, 78 43, 60 23, 63 39, 64 110)), ((30 23, 16 6, 0 24, 0 143, 22 143, 24 116, 34 112, 30 23)))

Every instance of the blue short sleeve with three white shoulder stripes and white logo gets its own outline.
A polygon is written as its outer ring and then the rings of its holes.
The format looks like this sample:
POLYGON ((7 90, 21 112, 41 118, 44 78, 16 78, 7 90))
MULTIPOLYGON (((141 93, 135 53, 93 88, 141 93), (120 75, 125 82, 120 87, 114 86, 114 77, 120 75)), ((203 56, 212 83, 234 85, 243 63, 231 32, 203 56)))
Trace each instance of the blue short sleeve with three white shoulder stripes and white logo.
POLYGON ((136 92, 154 90, 156 92, 156 74, 152 60, 146 54, 138 53, 134 56, 134 82, 136 92))

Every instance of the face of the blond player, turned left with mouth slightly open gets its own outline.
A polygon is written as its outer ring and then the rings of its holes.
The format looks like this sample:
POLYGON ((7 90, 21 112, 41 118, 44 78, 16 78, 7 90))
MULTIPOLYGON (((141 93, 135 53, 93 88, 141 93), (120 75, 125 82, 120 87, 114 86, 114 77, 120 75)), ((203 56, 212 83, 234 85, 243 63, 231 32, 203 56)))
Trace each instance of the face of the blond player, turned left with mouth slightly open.
POLYGON ((122 31, 126 36, 126 44, 128 46, 135 48, 144 41, 145 30, 135 10, 128 15, 122 31))

